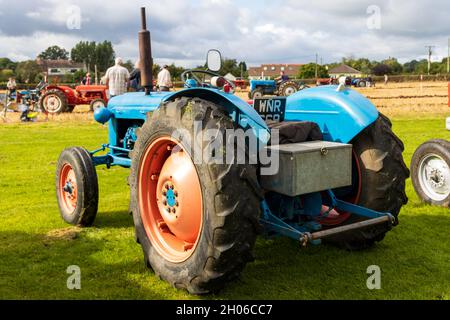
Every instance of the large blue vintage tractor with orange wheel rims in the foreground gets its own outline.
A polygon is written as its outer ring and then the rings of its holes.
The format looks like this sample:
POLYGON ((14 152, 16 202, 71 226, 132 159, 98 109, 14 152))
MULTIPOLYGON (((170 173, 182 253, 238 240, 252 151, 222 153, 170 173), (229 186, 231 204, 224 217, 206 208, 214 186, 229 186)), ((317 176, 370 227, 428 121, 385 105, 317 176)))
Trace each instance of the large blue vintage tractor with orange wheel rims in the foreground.
POLYGON ((260 232, 358 250, 398 223, 409 175, 403 144, 361 94, 324 86, 260 101, 255 110, 222 90, 228 81, 216 74, 216 50, 207 71, 190 70, 186 89, 152 92, 145 9, 139 44, 145 92, 95 111, 108 124, 108 143, 59 157, 65 221, 93 224, 97 166, 130 168, 129 211, 145 263, 193 294, 238 277, 260 232), (205 73, 211 81, 199 83, 205 73))

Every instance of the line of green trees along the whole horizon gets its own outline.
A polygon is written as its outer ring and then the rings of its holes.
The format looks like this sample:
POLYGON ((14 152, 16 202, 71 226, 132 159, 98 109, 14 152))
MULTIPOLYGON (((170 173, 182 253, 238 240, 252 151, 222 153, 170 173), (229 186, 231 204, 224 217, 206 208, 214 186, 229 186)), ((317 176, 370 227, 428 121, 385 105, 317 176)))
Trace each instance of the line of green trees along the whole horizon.
MULTIPOLYGON (((99 76, 103 75, 106 70, 114 64, 116 53, 110 41, 95 42, 95 41, 80 41, 70 51, 59 46, 51 46, 41 52, 37 58, 43 60, 72 60, 73 62, 82 63, 87 71, 91 73, 97 68, 99 76)), ((340 62, 331 63, 328 65, 316 65, 309 63, 299 71, 297 75, 300 79, 313 79, 316 76, 326 78, 329 77, 328 71, 332 68, 344 63, 352 68, 355 68, 366 75, 400 75, 400 74, 428 74, 428 61, 412 60, 404 64, 398 62, 396 58, 388 58, 382 61, 369 60, 367 58, 346 57, 340 62)), ((128 60, 124 66, 130 71, 134 69, 134 62, 128 60)), ((198 66, 199 69, 205 69, 206 66, 198 66)), ((155 64, 153 66, 153 75, 156 77, 161 70, 161 66, 155 64)), ((186 69, 181 66, 171 64, 169 71, 174 80, 179 80, 181 74, 186 69)), ((78 71, 74 74, 67 75, 62 82, 79 82, 83 76, 84 71, 78 71)), ((222 63, 220 74, 222 76, 231 73, 236 77, 248 77, 248 68, 245 61, 238 61, 236 59, 225 58, 222 63)), ((447 58, 440 62, 432 62, 430 74, 447 73, 447 58)), ((42 79, 43 73, 41 67, 36 60, 27 60, 21 62, 14 62, 8 58, 0 58, 0 82, 7 81, 10 77, 16 77, 18 82, 38 82, 42 79)))

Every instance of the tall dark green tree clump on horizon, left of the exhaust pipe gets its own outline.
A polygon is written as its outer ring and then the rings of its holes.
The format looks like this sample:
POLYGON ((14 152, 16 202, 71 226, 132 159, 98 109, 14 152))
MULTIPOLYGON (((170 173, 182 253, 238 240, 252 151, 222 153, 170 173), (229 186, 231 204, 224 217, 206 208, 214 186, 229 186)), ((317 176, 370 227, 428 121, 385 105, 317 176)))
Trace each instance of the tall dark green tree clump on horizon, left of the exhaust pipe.
POLYGON ((93 71, 95 65, 99 72, 105 72, 114 64, 115 52, 112 43, 103 41, 80 41, 72 48, 70 56, 73 61, 84 63, 88 71, 93 71))

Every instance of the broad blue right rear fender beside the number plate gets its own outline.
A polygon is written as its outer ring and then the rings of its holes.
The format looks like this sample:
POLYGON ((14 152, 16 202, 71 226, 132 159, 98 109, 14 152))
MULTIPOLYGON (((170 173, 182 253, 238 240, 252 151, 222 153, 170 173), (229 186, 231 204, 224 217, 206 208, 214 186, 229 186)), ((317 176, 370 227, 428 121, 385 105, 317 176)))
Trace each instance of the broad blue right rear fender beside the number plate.
POLYGON ((374 123, 378 110, 359 92, 337 86, 305 89, 287 98, 285 121, 317 123, 324 139, 349 143, 374 123))

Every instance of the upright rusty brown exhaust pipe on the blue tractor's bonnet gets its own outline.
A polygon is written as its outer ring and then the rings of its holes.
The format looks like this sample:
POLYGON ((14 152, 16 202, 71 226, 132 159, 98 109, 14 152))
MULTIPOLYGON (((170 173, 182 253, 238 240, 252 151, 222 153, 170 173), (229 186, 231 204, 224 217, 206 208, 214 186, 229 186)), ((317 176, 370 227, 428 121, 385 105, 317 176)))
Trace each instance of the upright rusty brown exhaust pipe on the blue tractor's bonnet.
POLYGON ((141 69, 141 86, 145 89, 145 94, 149 95, 153 89, 153 57, 150 31, 147 30, 147 17, 145 8, 141 8, 142 30, 139 31, 139 56, 141 69))

